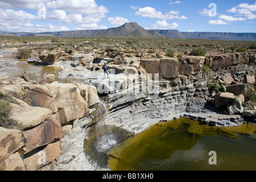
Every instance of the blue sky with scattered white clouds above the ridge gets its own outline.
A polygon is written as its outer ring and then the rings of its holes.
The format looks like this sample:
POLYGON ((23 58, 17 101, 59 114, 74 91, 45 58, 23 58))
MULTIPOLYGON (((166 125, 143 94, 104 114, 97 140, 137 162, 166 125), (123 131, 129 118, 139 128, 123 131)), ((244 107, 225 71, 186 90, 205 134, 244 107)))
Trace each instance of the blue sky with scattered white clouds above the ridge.
POLYGON ((137 22, 181 32, 256 32, 256 1, 0 0, 0 31, 100 30, 137 22))

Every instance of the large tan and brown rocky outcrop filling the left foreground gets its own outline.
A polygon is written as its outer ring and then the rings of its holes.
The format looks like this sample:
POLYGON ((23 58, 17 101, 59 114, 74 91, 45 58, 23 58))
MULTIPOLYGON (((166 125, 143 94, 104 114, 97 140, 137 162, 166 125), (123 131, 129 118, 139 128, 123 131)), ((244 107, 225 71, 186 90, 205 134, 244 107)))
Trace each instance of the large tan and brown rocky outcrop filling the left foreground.
POLYGON ((62 154, 60 139, 64 131, 67 134, 71 130, 61 124, 67 125, 92 113, 88 105, 92 108, 100 102, 97 90, 81 83, 35 85, 12 79, 1 80, 0 90, 23 101, 15 98, 11 103, 12 118, 19 129, 0 127, 0 169, 35 171, 46 165, 51 169, 62 154))

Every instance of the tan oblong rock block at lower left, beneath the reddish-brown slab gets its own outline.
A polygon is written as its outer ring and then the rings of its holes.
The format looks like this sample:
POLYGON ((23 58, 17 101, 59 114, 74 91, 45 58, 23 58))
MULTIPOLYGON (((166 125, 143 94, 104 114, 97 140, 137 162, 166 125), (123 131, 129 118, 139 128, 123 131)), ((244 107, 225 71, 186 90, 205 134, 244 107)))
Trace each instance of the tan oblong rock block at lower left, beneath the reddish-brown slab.
POLYGON ((46 147, 36 148, 30 153, 25 154, 23 161, 28 171, 36 171, 53 162, 61 154, 61 144, 60 140, 58 140, 57 142, 48 144, 46 147))

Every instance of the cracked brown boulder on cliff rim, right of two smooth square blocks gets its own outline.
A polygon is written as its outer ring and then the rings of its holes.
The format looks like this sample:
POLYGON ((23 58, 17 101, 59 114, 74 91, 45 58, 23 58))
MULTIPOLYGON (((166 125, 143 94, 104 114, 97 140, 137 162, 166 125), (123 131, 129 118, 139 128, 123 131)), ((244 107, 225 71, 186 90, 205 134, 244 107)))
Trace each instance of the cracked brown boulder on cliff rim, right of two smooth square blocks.
POLYGON ((183 57, 179 64, 180 75, 192 75, 200 73, 203 69, 203 56, 187 56, 183 57))

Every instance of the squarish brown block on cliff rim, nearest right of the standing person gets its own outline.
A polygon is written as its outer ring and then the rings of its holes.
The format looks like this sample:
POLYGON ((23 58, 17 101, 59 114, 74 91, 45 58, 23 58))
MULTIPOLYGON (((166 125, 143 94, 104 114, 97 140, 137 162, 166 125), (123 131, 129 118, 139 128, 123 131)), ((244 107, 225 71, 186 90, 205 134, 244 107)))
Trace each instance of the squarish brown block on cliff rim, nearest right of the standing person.
POLYGON ((159 74, 160 59, 142 59, 141 67, 154 79, 154 74, 159 74))

